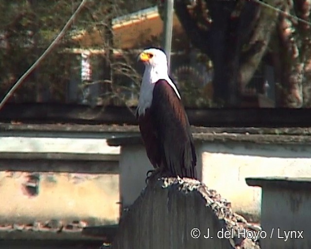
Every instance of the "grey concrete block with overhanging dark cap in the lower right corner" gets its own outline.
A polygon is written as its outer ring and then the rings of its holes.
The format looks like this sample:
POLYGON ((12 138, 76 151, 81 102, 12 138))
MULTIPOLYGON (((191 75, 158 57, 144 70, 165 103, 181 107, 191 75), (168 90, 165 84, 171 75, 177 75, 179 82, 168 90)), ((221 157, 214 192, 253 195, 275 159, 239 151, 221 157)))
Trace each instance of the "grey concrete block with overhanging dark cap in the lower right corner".
POLYGON ((262 249, 311 248, 311 178, 247 178, 262 187, 262 249))

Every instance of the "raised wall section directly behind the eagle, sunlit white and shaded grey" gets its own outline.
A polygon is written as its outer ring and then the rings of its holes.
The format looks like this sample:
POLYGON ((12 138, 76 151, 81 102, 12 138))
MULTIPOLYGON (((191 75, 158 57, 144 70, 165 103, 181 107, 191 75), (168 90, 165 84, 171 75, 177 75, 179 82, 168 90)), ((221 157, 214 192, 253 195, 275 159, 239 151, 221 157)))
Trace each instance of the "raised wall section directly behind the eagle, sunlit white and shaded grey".
MULTIPOLYGON (((250 142, 196 142, 198 177, 230 200, 233 210, 259 219, 261 189, 249 187, 246 177, 311 175, 310 145, 273 145, 250 142)), ((142 145, 124 145, 120 172, 122 206, 131 205, 146 186, 152 169, 142 145)))

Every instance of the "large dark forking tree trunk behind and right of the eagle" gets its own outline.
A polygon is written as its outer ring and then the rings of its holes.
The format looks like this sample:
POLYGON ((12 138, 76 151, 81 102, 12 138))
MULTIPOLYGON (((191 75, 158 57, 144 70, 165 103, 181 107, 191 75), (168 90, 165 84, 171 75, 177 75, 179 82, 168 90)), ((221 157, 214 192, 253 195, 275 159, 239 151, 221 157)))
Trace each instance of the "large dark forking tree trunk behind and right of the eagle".
MULTIPOLYGON (((281 3, 271 2, 273 6, 281 3)), ((189 9, 185 1, 176 1, 176 15, 192 44, 213 62, 214 101, 239 106, 240 94, 266 51, 277 12, 245 0, 198 0, 189 9)))

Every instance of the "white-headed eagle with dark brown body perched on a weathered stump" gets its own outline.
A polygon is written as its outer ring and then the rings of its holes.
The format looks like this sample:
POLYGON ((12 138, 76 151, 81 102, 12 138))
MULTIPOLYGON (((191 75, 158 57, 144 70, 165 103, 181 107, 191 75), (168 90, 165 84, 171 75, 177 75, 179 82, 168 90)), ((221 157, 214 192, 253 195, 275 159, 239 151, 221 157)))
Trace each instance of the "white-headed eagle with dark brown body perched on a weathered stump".
POLYGON ((155 173, 166 177, 196 178, 196 154, 180 94, 168 75, 166 54, 144 50, 145 65, 137 118, 146 152, 155 173))

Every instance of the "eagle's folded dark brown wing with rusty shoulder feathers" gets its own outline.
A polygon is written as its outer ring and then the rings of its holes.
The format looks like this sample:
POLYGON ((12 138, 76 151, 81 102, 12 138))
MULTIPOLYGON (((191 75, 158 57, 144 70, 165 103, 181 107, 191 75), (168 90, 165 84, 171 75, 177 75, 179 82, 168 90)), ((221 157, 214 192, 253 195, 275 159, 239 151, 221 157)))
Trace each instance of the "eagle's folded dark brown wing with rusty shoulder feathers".
POLYGON ((174 177, 196 178, 196 154, 188 117, 166 80, 155 83, 150 115, 164 167, 174 177))

